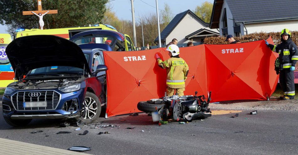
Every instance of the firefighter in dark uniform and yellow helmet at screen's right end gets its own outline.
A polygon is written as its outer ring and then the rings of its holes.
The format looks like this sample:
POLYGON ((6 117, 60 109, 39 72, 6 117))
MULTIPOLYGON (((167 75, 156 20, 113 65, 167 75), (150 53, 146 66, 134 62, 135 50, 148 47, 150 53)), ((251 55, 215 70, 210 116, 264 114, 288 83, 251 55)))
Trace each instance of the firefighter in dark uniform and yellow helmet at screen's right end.
POLYGON ((298 52, 297 46, 292 42, 290 30, 283 29, 280 37, 281 43, 278 45, 269 44, 267 41, 265 43, 273 52, 279 53, 279 83, 284 91, 284 96, 281 98, 289 100, 295 97, 294 70, 298 52))

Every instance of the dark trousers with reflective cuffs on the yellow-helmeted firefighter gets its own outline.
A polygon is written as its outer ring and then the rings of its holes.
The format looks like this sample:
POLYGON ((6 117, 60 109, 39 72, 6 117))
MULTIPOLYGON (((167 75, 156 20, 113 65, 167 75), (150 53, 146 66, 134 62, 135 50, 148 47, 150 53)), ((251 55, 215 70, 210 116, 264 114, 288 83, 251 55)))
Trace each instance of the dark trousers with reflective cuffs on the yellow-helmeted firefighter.
POLYGON ((279 72, 279 84, 285 96, 294 99, 295 96, 295 83, 294 72, 290 69, 283 69, 279 72))

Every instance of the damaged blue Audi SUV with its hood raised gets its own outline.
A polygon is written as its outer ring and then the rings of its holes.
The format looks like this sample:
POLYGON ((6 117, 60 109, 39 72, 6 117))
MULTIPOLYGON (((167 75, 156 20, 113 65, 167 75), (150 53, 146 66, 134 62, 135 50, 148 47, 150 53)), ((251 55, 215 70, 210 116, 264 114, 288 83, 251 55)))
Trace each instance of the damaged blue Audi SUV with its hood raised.
MULTIPOLYGON (((94 52, 94 50, 93 50, 94 52)), ((12 126, 32 119, 80 119, 92 123, 101 112, 103 63, 90 58, 75 43, 56 36, 15 39, 6 48, 17 82, 3 95, 3 117, 12 126), (87 61, 88 60, 88 61, 87 61)))

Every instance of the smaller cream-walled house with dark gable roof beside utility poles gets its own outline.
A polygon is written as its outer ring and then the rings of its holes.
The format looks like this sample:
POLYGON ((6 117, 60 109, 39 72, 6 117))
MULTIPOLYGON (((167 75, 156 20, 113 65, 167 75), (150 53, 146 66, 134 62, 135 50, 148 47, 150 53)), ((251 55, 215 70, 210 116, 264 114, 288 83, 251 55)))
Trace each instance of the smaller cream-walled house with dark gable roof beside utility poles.
MULTIPOLYGON (((160 33, 161 44, 167 45, 173 38, 178 44, 187 42, 202 42, 206 36, 218 36, 218 31, 212 31, 209 23, 202 21, 192 11, 187 10, 177 14, 160 33)), ((158 45, 158 36, 154 40, 158 45)))

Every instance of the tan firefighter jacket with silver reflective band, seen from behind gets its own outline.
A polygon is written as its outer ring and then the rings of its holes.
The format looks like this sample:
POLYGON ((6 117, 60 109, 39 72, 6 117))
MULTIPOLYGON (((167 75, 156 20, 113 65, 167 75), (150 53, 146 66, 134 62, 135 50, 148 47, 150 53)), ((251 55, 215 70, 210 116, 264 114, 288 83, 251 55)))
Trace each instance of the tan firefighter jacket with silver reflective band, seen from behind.
POLYGON ((167 69, 167 85, 170 88, 184 88, 188 65, 182 58, 169 58, 166 61, 157 59, 158 65, 167 69))

